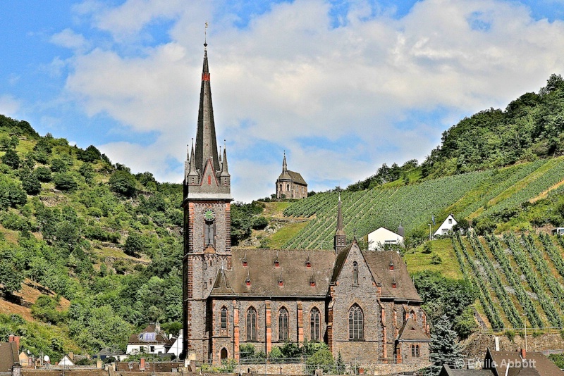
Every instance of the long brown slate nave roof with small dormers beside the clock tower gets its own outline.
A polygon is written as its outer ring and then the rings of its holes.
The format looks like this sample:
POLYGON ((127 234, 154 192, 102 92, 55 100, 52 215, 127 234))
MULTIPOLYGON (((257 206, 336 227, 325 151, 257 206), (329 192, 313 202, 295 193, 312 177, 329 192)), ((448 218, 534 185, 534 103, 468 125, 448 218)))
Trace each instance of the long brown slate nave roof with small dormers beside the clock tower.
POLYGON ((325 297, 335 265, 330 250, 231 249, 232 269, 220 270, 210 296, 325 297), (309 258, 311 267, 306 261, 309 258), (243 259, 247 266, 243 265, 243 259), (278 266, 274 261, 278 259, 278 266), (247 286, 247 276, 250 286, 247 286), (282 286, 279 285, 282 280, 282 286), (314 286, 312 286, 312 282, 314 286))

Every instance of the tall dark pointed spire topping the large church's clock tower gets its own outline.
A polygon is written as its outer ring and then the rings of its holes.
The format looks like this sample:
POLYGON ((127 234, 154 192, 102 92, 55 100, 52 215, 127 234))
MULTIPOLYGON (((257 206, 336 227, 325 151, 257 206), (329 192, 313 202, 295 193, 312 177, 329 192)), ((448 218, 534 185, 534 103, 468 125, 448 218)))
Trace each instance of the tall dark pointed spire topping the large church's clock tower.
MULTIPOLYGON (((207 46, 207 44, 204 44, 207 46)), ((217 155, 216 127, 214 123, 214 107, 212 106, 212 89, 209 83, 209 65, 207 49, 204 49, 204 66, 202 68, 202 87, 200 89, 200 110, 196 132, 196 168, 203 171, 208 158, 212 158, 214 170, 219 171, 217 155)))

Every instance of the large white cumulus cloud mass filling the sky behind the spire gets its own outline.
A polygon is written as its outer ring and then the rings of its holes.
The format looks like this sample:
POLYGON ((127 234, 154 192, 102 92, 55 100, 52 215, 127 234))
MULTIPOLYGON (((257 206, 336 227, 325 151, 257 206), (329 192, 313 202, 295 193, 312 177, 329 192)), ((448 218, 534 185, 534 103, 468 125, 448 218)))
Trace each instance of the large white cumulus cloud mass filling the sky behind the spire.
POLYGON ((195 136, 201 14, 209 16, 214 114, 219 137, 230 143, 236 199, 274 192, 282 149, 315 190, 345 186, 384 162, 421 160, 456 120, 538 89, 564 63, 564 24, 534 20, 515 2, 418 1, 401 18, 360 2, 339 15, 338 27, 331 4, 319 0, 274 4, 245 27, 221 12, 221 1, 85 4, 96 27, 116 40, 173 20, 171 41, 138 56, 103 46, 75 56, 66 90, 89 115, 157 132, 149 146, 103 149, 176 182, 182 169, 162 165, 173 158, 180 166, 195 136), (261 143, 278 149, 259 156, 261 143))

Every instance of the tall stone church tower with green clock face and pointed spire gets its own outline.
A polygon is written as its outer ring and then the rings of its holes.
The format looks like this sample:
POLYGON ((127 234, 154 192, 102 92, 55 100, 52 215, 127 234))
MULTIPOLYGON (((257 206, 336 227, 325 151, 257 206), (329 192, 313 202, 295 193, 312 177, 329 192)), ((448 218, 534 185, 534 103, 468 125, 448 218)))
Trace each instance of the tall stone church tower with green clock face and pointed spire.
POLYGON ((183 182, 183 356, 200 357, 209 344, 206 299, 219 270, 231 269, 231 176, 227 151, 219 156, 209 83, 207 44, 200 89, 196 144, 183 182))

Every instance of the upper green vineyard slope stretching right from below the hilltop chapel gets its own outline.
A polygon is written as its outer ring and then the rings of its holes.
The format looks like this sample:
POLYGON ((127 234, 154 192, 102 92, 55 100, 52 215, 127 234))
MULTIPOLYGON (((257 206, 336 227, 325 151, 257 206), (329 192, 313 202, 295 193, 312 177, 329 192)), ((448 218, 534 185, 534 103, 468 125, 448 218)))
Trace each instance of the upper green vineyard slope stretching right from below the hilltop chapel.
MULTIPOLYGON (((341 192, 345 233, 357 238, 386 227, 395 231, 401 224, 407 235, 426 230, 431 215, 435 230, 448 213, 475 220, 522 206, 564 180, 564 157, 539 159, 497 170, 441 177, 400 187, 376 187, 341 192)), ((557 192, 564 189, 560 186, 557 192)), ((292 203, 284 215, 311 218, 292 239, 290 249, 319 249, 332 246, 336 228, 338 192, 315 194, 292 203)))

